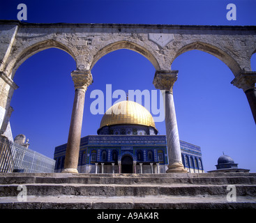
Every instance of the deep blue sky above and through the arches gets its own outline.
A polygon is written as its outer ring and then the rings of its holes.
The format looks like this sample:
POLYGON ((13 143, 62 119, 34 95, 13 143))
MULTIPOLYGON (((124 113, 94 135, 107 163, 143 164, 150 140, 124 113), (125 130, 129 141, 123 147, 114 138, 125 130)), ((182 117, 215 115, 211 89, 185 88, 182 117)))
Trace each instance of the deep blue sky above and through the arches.
MULTIPOLYGON (((256 25, 256 1, 0 1, 0 19, 17 20, 18 3, 26 3, 27 22, 256 25), (228 3, 236 4, 236 21, 226 19, 228 3)), ((256 70, 256 55, 251 59, 256 70)), ((14 137, 25 134, 30 148, 53 157, 54 147, 68 139, 74 88, 70 72, 75 61, 60 49, 46 49, 18 68, 10 118, 14 137)), ((183 141, 201 146, 206 171, 216 169, 223 152, 240 168, 256 171, 255 122, 246 95, 230 82, 234 75, 216 57, 193 50, 181 54, 172 70, 179 70, 174 102, 183 141)), ((91 91, 154 90, 155 69, 144 56, 120 49, 103 56, 91 70, 93 84, 86 92, 82 137, 96 134, 103 115, 93 115, 91 91)), ((115 100, 113 99, 112 102, 115 100)), ((165 134, 165 123, 156 123, 165 134)))

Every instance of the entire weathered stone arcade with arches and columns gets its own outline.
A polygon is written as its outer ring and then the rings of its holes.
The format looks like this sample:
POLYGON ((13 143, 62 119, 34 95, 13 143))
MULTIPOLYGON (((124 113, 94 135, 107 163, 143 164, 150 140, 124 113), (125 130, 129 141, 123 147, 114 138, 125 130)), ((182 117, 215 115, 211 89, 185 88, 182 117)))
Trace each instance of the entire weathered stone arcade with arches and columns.
MULTIPOLYGON (((156 68, 152 81, 164 90, 165 124, 169 165, 167 172, 186 172, 182 164, 179 132, 172 87, 178 71, 171 70, 183 52, 199 49, 223 61, 234 74, 232 84, 246 93, 256 121, 256 73, 250 58, 256 51, 255 26, 181 26, 149 24, 27 24, 0 21, 0 125, 4 134, 10 114, 13 82, 19 66, 37 52, 51 47, 62 49, 76 61, 71 73, 75 99, 63 172, 77 173, 84 95, 93 82, 91 69, 105 54, 131 49, 145 56, 156 68)), ((86 126, 86 123, 84 123, 86 126)))

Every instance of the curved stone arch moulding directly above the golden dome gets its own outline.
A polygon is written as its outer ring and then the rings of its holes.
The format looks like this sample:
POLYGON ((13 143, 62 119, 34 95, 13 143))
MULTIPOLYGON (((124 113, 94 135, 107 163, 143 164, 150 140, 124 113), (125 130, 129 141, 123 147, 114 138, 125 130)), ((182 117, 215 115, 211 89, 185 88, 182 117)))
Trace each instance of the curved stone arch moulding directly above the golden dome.
POLYGON ((133 50, 139 54, 142 54, 142 56, 145 56, 146 59, 148 59, 152 65, 156 68, 156 70, 160 70, 160 65, 158 63, 158 60, 156 59, 151 52, 142 47, 141 45, 138 45, 137 43, 132 43, 130 41, 118 41, 115 43, 111 43, 109 45, 106 45, 105 47, 101 48, 94 56, 93 61, 91 63, 90 70, 93 68, 93 66, 97 63, 97 61, 105 56, 106 54, 109 54, 110 52, 114 52, 118 49, 130 49, 133 50))

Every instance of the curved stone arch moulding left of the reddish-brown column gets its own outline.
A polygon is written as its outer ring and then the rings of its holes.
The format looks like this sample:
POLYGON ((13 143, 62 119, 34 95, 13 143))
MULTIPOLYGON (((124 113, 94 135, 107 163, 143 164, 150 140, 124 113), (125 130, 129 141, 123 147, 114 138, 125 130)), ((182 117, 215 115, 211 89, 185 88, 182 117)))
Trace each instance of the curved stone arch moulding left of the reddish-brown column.
POLYGON ((30 45, 29 47, 25 48, 22 50, 22 52, 13 60, 15 60, 13 63, 11 62, 10 64, 13 64, 12 68, 7 68, 6 70, 10 70, 11 72, 11 78, 13 79, 16 70, 22 65, 24 61, 29 59, 30 56, 33 56, 34 54, 43 51, 45 49, 50 49, 50 48, 57 48, 61 49, 64 52, 67 52, 70 54, 70 56, 75 59, 75 53, 69 49, 66 45, 63 45, 62 43, 59 43, 56 40, 44 40, 40 41, 36 44, 30 45))

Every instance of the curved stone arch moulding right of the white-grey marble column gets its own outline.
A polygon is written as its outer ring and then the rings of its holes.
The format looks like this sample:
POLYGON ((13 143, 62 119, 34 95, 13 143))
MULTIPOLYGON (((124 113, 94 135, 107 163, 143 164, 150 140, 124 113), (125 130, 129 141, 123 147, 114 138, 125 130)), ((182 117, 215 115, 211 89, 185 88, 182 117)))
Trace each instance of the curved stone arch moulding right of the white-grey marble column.
POLYGON ((218 59, 220 59, 220 61, 223 61, 223 63, 225 63, 229 67, 235 77, 241 72, 241 67, 239 66, 239 63, 237 63, 235 59, 232 58, 232 56, 227 54, 227 52, 224 52, 222 49, 210 45, 209 43, 203 43, 201 41, 196 41, 193 43, 189 43, 188 45, 184 45, 176 52, 174 59, 176 59, 179 55, 193 49, 197 49, 216 56, 218 59))

